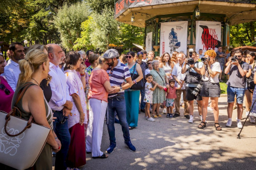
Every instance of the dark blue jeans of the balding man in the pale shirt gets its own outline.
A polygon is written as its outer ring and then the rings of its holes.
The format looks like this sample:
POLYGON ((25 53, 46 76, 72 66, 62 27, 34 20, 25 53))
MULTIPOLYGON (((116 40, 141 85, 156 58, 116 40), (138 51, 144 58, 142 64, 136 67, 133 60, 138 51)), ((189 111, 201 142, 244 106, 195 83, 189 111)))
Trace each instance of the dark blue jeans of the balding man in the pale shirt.
POLYGON ((61 123, 64 117, 62 110, 54 111, 53 116, 57 118, 53 122, 53 131, 57 135, 58 139, 61 141, 61 150, 56 153, 55 169, 67 169, 66 158, 70 144, 69 128, 67 127, 68 120, 63 124, 61 123))

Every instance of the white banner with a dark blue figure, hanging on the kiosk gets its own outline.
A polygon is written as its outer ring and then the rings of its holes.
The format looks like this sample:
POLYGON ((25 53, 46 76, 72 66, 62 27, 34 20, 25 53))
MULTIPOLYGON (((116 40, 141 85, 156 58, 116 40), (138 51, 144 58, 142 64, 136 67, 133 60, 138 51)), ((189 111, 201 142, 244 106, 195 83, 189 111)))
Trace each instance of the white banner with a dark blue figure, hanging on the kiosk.
POLYGON ((160 56, 174 51, 187 55, 187 21, 161 23, 160 56))

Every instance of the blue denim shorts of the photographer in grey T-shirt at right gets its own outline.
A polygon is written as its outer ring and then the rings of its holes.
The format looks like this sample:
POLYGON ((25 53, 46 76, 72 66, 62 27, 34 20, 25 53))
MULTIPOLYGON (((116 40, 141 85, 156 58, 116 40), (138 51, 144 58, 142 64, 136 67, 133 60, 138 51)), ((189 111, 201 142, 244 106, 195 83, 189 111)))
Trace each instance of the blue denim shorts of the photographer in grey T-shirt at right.
POLYGON ((242 104, 244 102, 245 88, 228 86, 227 92, 228 92, 228 103, 233 103, 235 96, 236 96, 236 102, 238 104, 242 104))

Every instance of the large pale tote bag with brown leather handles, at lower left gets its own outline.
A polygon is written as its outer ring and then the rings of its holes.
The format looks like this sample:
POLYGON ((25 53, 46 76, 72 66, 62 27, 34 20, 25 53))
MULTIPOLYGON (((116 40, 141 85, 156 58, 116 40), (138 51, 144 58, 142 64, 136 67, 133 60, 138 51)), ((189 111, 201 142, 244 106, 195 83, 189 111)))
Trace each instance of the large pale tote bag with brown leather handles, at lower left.
POLYGON ((0 111, 0 163, 15 169, 27 169, 35 164, 43 147, 45 147, 51 129, 32 123, 14 115, 16 107, 28 86, 26 84, 17 95, 17 101, 10 113, 0 111))

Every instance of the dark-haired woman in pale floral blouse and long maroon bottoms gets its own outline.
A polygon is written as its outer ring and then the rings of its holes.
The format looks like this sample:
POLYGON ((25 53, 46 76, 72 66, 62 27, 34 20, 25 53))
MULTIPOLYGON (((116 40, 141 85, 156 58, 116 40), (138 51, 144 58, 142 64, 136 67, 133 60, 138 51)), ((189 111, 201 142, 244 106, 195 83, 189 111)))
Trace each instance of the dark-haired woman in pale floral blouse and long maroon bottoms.
POLYGON ((67 153, 67 166, 78 168, 86 163, 85 157, 85 129, 87 124, 87 109, 85 92, 85 67, 81 64, 82 59, 77 52, 69 52, 66 57, 64 74, 69 87, 69 95, 73 104, 67 125, 70 132, 69 152, 67 153), (77 71, 79 70, 79 75, 77 71))

